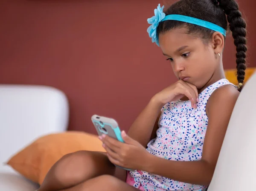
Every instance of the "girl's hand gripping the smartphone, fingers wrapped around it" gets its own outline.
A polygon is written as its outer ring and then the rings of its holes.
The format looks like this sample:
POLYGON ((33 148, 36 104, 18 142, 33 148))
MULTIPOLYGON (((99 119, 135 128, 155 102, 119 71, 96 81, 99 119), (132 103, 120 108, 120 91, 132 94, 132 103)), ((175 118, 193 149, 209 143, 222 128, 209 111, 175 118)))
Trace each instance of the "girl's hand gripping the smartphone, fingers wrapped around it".
POLYGON ((107 151, 108 159, 120 167, 144 170, 150 153, 139 142, 126 135, 124 131, 121 135, 125 143, 105 134, 99 136, 103 143, 102 146, 107 151))

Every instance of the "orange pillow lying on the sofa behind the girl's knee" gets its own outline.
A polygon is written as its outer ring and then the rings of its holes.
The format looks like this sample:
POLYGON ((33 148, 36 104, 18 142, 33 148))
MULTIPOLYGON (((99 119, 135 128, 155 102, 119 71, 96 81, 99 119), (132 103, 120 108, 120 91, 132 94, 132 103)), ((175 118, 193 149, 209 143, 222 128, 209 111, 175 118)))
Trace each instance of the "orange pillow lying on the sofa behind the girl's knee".
POLYGON ((7 164, 27 179, 41 184, 49 169, 58 159, 78 150, 105 152, 98 136, 84 132, 67 131, 36 139, 12 156, 7 164))

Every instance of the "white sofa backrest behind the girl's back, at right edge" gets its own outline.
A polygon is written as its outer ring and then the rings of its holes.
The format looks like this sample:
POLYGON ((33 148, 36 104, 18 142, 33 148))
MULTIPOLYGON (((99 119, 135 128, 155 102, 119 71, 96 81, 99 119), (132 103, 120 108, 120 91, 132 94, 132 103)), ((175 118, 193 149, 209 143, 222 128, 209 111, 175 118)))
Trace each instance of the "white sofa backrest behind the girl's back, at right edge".
POLYGON ((256 191, 256 73, 241 91, 208 191, 256 191))

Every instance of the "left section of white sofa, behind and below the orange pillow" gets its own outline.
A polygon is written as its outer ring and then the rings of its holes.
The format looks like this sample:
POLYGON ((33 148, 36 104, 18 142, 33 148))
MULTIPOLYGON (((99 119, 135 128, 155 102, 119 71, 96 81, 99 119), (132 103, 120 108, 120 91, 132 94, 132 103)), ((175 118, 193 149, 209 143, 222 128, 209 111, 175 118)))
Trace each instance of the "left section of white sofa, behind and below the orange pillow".
POLYGON ((48 133, 67 130, 69 104, 60 90, 46 86, 0 85, 0 191, 35 191, 35 184, 5 162, 48 133))

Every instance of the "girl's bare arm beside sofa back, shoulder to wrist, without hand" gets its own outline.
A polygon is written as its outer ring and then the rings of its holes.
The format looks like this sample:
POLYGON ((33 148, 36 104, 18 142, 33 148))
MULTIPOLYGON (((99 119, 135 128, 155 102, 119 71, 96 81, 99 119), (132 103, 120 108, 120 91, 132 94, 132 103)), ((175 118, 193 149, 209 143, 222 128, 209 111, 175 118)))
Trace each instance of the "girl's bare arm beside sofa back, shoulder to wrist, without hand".
POLYGON ((209 185, 233 107, 239 96, 235 87, 227 85, 212 93, 207 103, 208 126, 200 161, 171 161, 150 156, 143 171, 198 185, 209 185))

